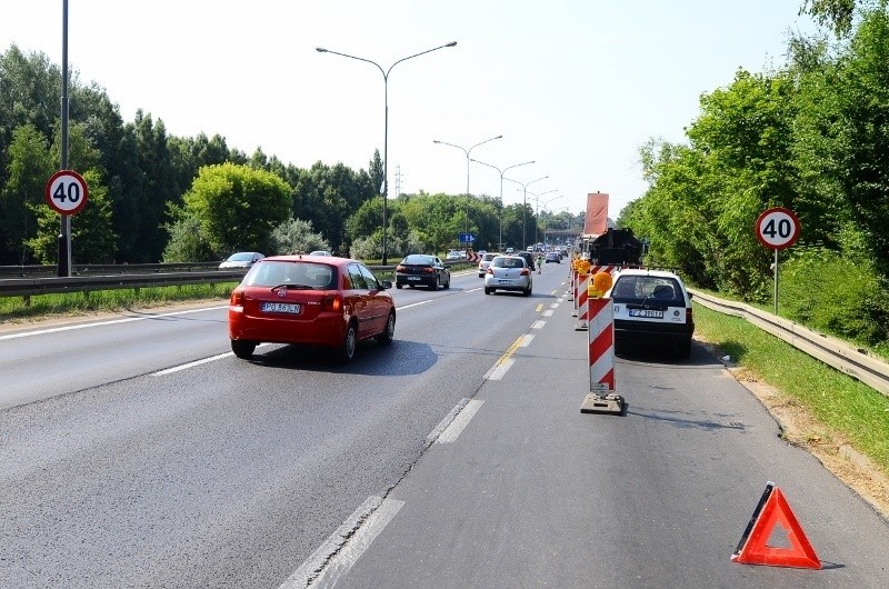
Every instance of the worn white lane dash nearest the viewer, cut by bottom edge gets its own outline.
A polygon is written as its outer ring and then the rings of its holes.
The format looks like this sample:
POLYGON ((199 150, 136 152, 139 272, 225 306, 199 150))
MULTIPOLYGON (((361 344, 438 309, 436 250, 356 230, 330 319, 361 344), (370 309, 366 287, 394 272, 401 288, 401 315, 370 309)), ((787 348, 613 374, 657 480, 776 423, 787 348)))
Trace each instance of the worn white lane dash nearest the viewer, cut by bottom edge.
POLYGON ((361 558, 364 550, 396 517, 404 501, 373 496, 364 500, 333 533, 316 549, 279 589, 333 587, 361 558))

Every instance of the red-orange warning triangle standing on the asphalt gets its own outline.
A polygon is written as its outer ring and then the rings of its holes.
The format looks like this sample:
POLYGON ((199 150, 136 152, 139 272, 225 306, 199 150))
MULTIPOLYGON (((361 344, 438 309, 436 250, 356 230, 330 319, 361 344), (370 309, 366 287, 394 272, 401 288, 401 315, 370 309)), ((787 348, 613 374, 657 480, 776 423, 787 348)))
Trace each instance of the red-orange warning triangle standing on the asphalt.
POLYGON ((731 555, 731 561, 770 567, 821 568, 821 561, 806 538, 802 527, 793 516, 783 493, 773 482, 766 483, 766 491, 747 525, 741 541, 738 542, 738 548, 731 555), (780 525, 786 532, 792 548, 768 546, 769 537, 777 525, 780 525))

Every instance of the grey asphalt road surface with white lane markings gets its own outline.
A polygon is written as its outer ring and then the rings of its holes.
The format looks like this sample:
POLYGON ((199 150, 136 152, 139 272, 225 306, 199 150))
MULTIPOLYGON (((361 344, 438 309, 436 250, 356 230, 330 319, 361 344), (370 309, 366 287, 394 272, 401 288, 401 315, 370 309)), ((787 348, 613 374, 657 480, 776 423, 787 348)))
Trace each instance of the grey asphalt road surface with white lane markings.
POLYGON ((889 523, 702 347, 581 413, 566 274, 393 290, 348 367, 238 360, 219 307, 0 333, 0 587, 886 585, 889 523), (767 481, 822 570, 730 561, 767 481))

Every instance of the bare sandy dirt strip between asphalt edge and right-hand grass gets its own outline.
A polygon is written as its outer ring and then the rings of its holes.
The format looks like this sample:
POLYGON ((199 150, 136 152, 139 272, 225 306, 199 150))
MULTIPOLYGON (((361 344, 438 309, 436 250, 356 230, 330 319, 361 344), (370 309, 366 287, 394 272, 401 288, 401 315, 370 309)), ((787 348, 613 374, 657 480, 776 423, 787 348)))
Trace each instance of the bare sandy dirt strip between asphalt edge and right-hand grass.
MULTIPOLYGON (((723 357, 723 352, 713 343, 701 343, 716 358, 723 357)), ((877 465, 857 451, 840 432, 816 419, 797 399, 761 381, 751 370, 731 363, 726 363, 726 369, 775 417, 785 441, 809 451, 883 518, 889 519, 889 477, 877 465)))

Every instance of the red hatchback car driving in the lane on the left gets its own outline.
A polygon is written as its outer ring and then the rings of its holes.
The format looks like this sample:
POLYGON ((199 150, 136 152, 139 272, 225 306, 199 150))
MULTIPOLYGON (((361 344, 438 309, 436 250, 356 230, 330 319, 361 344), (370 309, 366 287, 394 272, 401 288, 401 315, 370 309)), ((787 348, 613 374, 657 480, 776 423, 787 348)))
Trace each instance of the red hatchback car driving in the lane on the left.
POLYGON ((229 338, 238 358, 260 342, 334 350, 349 362, 359 341, 392 342, 396 306, 363 263, 347 258, 271 256, 257 262, 231 292, 229 338))

